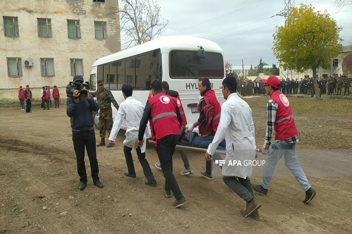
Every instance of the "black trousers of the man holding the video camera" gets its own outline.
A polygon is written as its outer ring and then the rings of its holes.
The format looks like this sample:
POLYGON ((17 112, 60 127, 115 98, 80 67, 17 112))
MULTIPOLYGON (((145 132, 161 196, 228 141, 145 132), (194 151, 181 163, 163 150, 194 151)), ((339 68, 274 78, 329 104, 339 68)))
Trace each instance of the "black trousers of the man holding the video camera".
POLYGON ((92 179, 94 182, 98 181, 99 167, 98 160, 96 159, 94 129, 87 132, 72 131, 72 141, 76 153, 77 172, 80 176, 80 181, 87 182, 86 166, 84 165, 84 147, 87 149, 92 179))

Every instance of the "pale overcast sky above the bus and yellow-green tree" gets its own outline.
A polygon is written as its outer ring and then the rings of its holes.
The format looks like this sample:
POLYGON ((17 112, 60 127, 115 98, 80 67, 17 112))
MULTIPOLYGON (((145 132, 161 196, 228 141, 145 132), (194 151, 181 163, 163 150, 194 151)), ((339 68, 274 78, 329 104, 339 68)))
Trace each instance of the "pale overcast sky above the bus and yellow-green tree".
MULTIPOLYGON (((284 0, 157 0, 162 17, 169 20, 161 36, 189 35, 215 41, 224 51, 225 61, 233 66, 257 65, 260 57, 272 65, 278 61, 272 52, 275 26, 284 25, 284 17, 274 16, 284 9, 284 0), (274 16, 271 18, 271 16, 274 16), (257 21, 257 22, 256 22, 257 21)), ((291 1, 293 2, 293 1, 291 1)), ((295 1, 295 7, 312 4, 325 9, 343 27, 340 36, 352 41, 352 7, 337 9, 333 0, 295 1), (338 12, 339 11, 339 12, 338 12), (338 12, 338 13, 335 13, 338 12)), ((123 40, 123 35, 121 35, 123 40)))

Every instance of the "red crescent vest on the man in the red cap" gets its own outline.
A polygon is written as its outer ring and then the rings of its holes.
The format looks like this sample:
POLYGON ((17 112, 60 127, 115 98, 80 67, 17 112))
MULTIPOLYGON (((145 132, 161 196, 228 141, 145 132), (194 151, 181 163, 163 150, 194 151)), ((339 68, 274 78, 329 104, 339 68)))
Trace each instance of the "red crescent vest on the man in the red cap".
POLYGON ((275 140, 284 140, 296 136, 297 128, 288 98, 280 91, 270 96, 277 103, 276 119, 274 124, 275 140))

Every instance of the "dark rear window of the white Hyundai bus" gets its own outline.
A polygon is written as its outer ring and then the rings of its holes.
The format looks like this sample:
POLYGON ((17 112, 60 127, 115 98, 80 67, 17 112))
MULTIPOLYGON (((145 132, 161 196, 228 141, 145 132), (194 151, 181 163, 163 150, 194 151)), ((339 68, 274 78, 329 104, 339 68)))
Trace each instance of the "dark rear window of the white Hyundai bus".
POLYGON ((221 54, 206 52, 206 58, 199 58, 197 51, 171 51, 171 78, 224 78, 224 60, 221 54))

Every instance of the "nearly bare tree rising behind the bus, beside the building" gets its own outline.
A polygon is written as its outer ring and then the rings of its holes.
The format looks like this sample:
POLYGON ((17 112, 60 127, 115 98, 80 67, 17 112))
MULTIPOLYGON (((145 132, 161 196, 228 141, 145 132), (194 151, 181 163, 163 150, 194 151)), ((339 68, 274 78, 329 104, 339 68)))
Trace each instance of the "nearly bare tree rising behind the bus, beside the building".
POLYGON ((161 19, 161 7, 154 0, 120 0, 119 7, 112 10, 112 14, 119 13, 125 48, 158 38, 169 23, 161 19))

